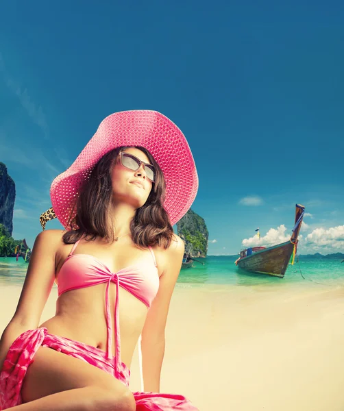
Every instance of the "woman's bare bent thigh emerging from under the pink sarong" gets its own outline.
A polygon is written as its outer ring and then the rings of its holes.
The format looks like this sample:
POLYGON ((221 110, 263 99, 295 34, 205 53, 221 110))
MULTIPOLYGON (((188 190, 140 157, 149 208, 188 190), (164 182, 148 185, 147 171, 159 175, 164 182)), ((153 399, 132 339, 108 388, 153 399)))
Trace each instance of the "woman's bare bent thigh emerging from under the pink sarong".
POLYGON ((96 366, 48 347, 40 347, 27 369, 21 396, 24 402, 29 402, 86 386, 96 386, 119 396, 129 391, 119 379, 96 366))

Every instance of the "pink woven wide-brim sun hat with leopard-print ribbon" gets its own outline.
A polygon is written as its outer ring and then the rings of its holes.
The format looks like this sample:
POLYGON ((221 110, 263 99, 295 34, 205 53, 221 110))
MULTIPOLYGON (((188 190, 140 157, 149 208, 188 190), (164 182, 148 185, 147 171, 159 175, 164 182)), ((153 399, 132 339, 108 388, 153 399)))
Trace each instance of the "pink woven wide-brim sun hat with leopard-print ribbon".
MULTIPOLYGON (((95 164, 109 151, 121 146, 141 146, 153 155, 166 181, 164 209, 171 224, 177 223, 193 203, 198 176, 193 154, 182 131, 167 116, 153 110, 116 112, 104 119, 73 164, 51 183, 52 208, 40 223, 55 217, 65 229, 80 189, 95 164)), ((73 211, 72 219, 76 210, 73 211)))

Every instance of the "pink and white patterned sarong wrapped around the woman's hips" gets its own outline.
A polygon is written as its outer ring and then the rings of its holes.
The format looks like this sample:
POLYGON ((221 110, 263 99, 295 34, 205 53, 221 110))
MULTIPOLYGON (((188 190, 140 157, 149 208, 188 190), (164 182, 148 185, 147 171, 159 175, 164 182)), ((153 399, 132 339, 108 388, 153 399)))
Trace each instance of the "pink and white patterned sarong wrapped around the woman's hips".
MULTIPOLYGON (((130 370, 121 362, 108 359, 105 351, 69 338, 48 334, 45 327, 23 332, 11 345, 0 373, 0 411, 23 403, 21 388, 29 365, 39 347, 49 347, 79 358, 106 371, 129 386, 130 370)), ((136 411, 198 411, 182 395, 133 393, 136 411)))

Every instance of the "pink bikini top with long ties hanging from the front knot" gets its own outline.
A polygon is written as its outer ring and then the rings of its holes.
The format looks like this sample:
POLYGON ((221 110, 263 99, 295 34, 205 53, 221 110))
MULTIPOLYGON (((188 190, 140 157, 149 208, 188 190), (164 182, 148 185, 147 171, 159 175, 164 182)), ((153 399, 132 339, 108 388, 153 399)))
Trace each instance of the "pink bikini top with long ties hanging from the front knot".
MULTIPOLYGON (((80 238, 81 240, 82 238, 80 238)), ((112 321, 109 301, 110 282, 116 284, 116 302, 114 307, 114 328, 116 334, 116 356, 115 362, 120 362, 121 338, 119 334, 119 287, 121 286, 140 301, 145 303, 147 308, 159 288, 159 276, 156 265, 156 258, 153 249, 148 247, 153 256, 153 264, 140 263, 134 264, 112 273, 108 266, 99 261, 96 257, 89 254, 73 254, 80 240, 77 240, 71 249, 71 253, 66 258, 56 282, 58 284, 58 295, 63 292, 95 286, 96 284, 108 283, 106 285, 106 325, 108 329, 108 358, 112 356, 112 321)), ((117 368, 116 368, 117 369, 117 368)))

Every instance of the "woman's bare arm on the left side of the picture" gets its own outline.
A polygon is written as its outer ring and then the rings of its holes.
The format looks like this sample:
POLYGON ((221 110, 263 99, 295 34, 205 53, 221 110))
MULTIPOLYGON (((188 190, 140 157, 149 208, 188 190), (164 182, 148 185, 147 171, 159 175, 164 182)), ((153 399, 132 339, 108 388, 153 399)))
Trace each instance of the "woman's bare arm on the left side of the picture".
POLYGON ((60 241, 58 230, 47 230, 36 237, 16 312, 1 336, 0 370, 14 340, 39 325, 55 279, 55 255, 60 241))

